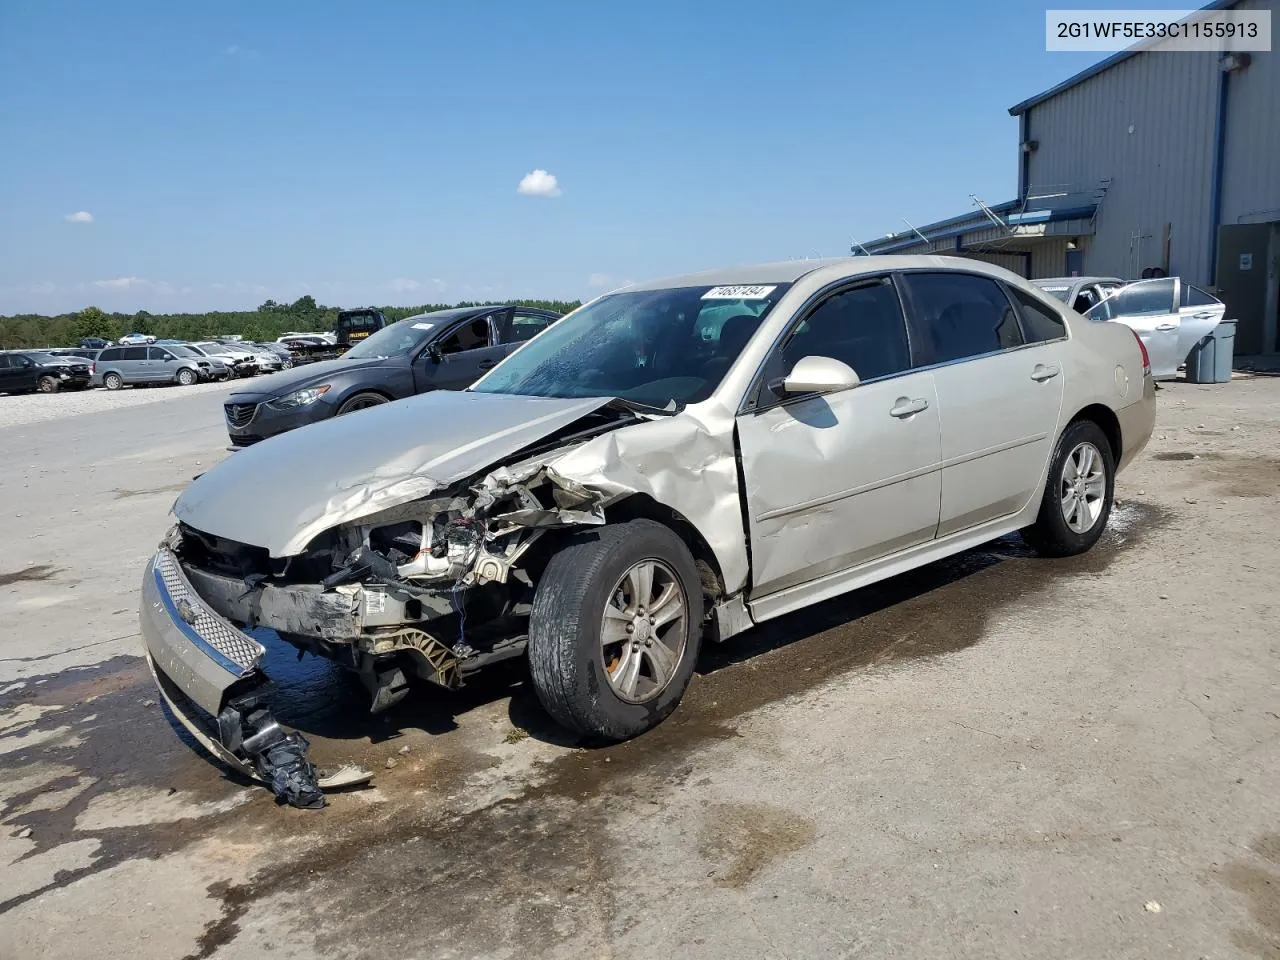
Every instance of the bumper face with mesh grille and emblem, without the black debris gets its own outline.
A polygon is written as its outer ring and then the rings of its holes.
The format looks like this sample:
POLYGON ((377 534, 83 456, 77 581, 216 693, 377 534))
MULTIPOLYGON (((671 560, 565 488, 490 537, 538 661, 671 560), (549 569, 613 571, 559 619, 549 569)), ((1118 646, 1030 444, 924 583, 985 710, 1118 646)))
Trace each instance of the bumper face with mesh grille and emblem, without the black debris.
POLYGON ((214 717, 227 691, 250 677, 266 653, 200 598, 169 549, 147 563, 138 621, 156 667, 214 717))

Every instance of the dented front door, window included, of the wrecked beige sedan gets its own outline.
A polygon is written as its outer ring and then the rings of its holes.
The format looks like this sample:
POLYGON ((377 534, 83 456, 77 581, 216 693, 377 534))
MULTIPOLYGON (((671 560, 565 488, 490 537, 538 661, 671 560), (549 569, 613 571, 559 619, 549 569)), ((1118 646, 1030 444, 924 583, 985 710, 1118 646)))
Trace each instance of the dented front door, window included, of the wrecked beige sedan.
POLYGON ((822 591, 813 581, 934 538, 938 401, 933 372, 911 367, 901 300, 887 275, 819 294, 774 347, 737 417, 756 616, 813 602, 822 591), (861 383, 778 396, 771 381, 808 356, 840 360, 861 383))

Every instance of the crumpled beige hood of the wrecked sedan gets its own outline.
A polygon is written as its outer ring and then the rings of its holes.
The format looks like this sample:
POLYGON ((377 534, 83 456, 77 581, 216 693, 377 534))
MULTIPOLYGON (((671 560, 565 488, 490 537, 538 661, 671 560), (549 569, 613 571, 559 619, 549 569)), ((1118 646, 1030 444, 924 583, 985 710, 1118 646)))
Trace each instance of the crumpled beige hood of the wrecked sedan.
POLYGON ((246 447, 196 477, 173 512, 291 557, 330 527, 472 476, 612 402, 435 390, 383 403, 246 447))

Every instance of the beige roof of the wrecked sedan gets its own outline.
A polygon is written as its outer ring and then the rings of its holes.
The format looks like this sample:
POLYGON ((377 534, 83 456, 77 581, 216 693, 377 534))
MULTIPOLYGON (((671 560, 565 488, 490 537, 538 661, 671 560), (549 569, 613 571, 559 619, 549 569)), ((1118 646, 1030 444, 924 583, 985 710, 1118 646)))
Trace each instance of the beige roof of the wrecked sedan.
POLYGON ((660 291, 672 287, 728 287, 795 283, 800 278, 810 275, 817 275, 815 279, 822 282, 836 282, 845 276, 878 274, 884 273, 886 270, 919 270, 922 268, 934 270, 964 270, 968 273, 988 274, 1002 280, 1025 283, 1025 280, 1016 274, 980 260, 934 255, 904 255, 782 260, 773 264, 732 266, 631 284, 620 288, 616 292, 631 293, 635 291, 660 291))

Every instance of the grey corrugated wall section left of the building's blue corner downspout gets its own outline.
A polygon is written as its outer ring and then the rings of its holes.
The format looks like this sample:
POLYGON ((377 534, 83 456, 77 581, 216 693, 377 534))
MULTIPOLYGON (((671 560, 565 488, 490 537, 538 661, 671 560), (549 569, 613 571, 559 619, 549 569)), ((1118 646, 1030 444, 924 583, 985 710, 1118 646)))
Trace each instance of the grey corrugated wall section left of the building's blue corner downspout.
POLYGON ((1085 274, 1158 265, 1169 223, 1170 271, 1204 282, 1217 77, 1215 54, 1138 54, 1030 108, 1033 191, 1111 179, 1085 274))

